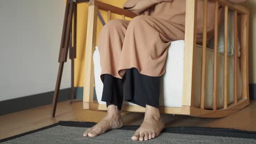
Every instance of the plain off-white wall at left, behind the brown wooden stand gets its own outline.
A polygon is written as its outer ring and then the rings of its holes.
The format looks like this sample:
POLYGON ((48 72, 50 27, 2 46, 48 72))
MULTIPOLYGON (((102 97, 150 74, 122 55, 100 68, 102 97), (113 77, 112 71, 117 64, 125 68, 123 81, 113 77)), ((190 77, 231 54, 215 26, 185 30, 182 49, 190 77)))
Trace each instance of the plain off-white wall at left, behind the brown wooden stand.
POLYGON ((54 91, 64 12, 64 0, 0 1, 0 101, 54 91))

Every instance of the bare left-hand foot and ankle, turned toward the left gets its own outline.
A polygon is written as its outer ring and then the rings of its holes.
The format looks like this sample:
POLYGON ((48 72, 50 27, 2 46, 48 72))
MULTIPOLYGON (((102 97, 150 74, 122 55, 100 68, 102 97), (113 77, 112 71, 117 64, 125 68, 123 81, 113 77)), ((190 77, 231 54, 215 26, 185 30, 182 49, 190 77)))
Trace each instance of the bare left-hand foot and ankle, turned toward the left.
POLYGON ((95 137, 97 135, 105 133, 110 129, 118 129, 120 127, 123 127, 121 111, 117 109, 117 106, 109 105, 107 116, 104 117, 100 122, 95 124, 93 127, 87 129, 83 135, 95 137))

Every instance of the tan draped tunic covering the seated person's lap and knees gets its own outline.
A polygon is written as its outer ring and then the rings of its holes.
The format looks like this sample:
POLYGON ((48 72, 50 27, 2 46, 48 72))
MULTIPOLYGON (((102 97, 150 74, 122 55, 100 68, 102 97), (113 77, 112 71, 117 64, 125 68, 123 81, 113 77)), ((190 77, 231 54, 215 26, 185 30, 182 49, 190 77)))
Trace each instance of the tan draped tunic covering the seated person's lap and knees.
MULTIPOLYGON (((202 41, 203 1, 197 3, 197 42, 202 41)), ((148 76, 165 73, 165 61, 171 41, 184 39, 185 0, 128 0, 124 9, 138 16, 131 21, 113 19, 98 37, 101 80, 103 74, 122 79, 125 69, 137 68, 148 76)), ((219 21, 223 8, 219 8, 219 21)), ((215 4, 208 2, 208 39, 214 33, 215 4)))

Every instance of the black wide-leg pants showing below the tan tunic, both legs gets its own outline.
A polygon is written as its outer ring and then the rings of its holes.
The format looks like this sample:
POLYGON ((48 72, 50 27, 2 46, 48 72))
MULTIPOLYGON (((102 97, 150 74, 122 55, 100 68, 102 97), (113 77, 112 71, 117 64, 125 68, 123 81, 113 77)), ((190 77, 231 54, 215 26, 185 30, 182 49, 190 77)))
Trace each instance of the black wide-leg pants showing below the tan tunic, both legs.
POLYGON ((131 68, 126 69, 123 79, 104 74, 101 100, 106 101, 107 106, 116 105, 118 110, 121 110, 123 100, 159 108, 159 93, 160 76, 143 75, 138 69, 131 68))

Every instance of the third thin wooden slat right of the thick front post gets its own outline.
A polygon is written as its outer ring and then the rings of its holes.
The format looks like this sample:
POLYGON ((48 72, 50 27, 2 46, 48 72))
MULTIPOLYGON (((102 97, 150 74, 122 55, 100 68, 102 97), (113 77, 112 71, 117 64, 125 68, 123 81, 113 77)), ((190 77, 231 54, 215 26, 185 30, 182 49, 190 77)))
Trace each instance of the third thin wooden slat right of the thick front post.
POLYGON ((225 5, 224 28, 224 109, 228 108, 228 13, 229 7, 225 5))

